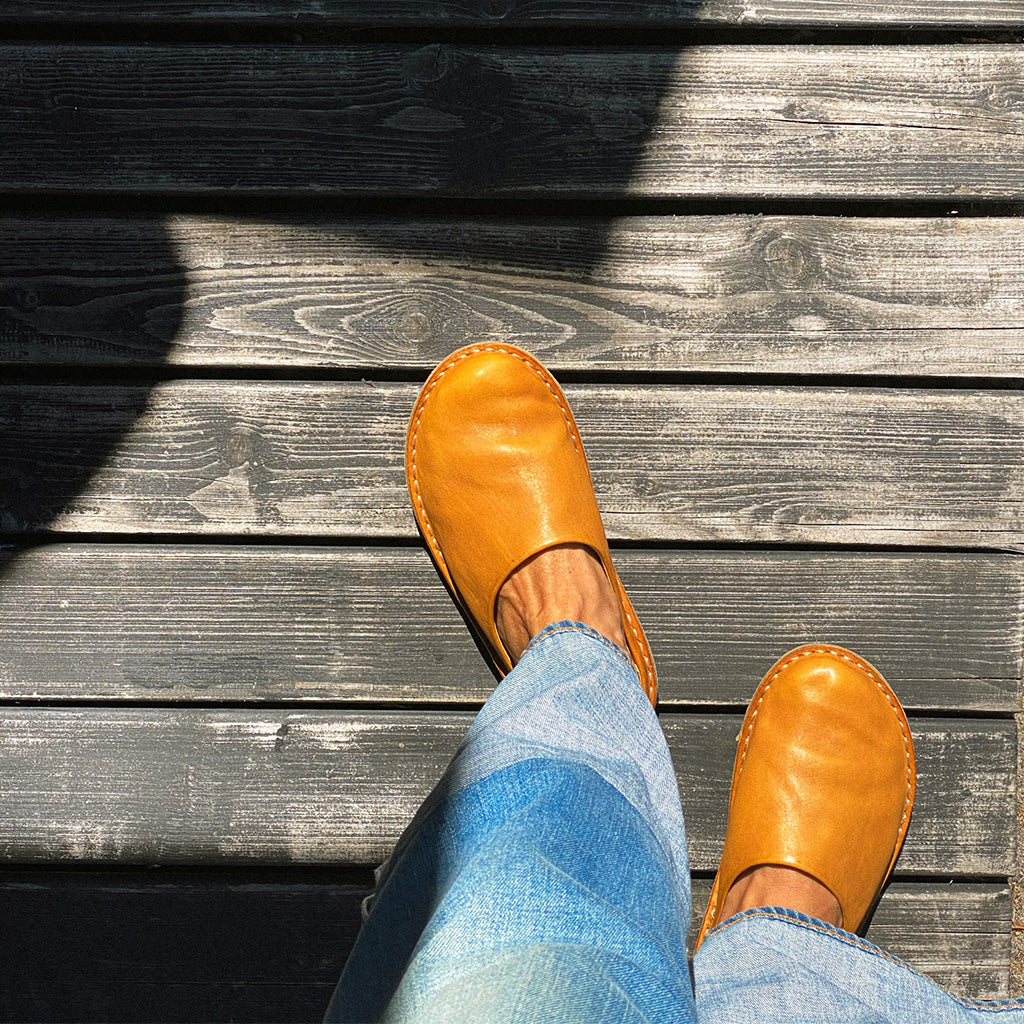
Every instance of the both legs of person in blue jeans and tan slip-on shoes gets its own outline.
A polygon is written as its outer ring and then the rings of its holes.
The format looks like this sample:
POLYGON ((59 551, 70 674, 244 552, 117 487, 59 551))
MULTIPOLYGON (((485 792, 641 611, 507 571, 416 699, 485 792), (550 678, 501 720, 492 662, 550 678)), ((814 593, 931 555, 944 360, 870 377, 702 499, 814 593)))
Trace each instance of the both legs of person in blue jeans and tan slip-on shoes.
POLYGON ((838 927, 860 927, 892 870, 913 750, 885 680, 822 646, 783 658, 744 720, 695 1007, 682 812, 647 700, 653 663, 564 395, 518 349, 455 353, 417 401, 407 476, 438 571, 510 674, 382 871, 329 1019, 1024 1015, 945 995, 838 927))

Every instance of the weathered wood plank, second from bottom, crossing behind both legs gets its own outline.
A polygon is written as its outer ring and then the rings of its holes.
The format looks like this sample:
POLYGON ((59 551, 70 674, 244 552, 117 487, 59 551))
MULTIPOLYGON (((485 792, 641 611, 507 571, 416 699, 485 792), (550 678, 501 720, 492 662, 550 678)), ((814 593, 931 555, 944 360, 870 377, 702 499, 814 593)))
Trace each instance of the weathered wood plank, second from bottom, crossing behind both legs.
MULTIPOLYGON (((10 708, 0 860, 359 863, 382 859, 440 776, 466 713, 10 708)), ((696 870, 721 853, 737 715, 663 716, 696 870)), ((916 719, 903 871, 1009 876, 1012 721, 916 719)))

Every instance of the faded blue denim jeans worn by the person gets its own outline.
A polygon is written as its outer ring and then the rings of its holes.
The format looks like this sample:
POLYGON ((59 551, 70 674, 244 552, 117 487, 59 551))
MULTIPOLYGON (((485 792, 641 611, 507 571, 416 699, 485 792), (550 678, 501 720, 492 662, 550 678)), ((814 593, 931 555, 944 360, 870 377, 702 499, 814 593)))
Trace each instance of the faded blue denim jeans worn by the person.
POLYGON ((691 979, 669 750, 623 651, 572 623, 495 690, 368 904, 328 1021, 1024 1024, 781 908, 720 925, 691 979))

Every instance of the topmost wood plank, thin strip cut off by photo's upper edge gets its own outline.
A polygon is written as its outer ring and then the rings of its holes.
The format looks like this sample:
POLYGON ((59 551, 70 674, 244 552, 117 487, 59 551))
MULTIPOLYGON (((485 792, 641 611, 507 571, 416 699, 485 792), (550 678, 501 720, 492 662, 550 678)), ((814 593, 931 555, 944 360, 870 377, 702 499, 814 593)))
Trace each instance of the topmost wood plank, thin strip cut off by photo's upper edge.
POLYGON ((503 26, 607 25, 680 28, 691 22, 724 25, 843 25, 995 28, 1020 27, 1017 0, 5 0, 4 16, 42 24, 116 22, 151 25, 279 24, 293 28, 378 25, 503 26))

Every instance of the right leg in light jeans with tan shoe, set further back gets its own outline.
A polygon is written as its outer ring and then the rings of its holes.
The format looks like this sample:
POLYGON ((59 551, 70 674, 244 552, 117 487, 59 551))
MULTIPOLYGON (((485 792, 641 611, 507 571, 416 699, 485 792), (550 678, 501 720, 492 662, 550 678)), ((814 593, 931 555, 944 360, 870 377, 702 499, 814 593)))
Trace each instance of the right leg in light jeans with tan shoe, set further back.
POLYGON ((737 744, 693 958, 701 1022, 971 1024, 996 1014, 1024 1024, 1024 1005, 954 998, 852 934, 892 870, 913 792, 909 727, 876 669, 826 644, 776 663, 737 744), (785 876, 794 899, 772 889, 785 876))

